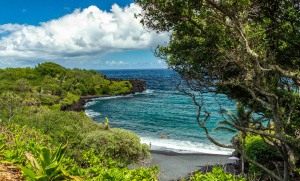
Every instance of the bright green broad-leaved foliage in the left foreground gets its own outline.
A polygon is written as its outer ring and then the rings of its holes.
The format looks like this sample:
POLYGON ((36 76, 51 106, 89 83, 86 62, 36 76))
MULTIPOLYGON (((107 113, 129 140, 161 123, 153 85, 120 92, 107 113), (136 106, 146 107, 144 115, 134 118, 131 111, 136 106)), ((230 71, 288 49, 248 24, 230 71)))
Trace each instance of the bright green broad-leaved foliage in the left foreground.
POLYGON ((24 171, 27 180, 156 180, 158 167, 129 170, 119 168, 113 159, 86 151, 83 159, 88 167, 81 168, 65 153, 72 145, 56 147, 42 130, 11 124, 0 127, 0 162, 11 162, 24 171), (51 147, 49 149, 48 147, 51 147))

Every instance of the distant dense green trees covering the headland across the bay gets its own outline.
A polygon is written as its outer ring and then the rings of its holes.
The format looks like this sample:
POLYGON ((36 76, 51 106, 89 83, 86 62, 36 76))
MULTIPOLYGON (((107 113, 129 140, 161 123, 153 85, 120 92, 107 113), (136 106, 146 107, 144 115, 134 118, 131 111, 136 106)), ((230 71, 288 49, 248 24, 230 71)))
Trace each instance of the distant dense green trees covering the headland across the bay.
MULTIPOLYGON (((38 64, 35 68, 1 69, 0 80, 0 93, 26 92, 61 99, 69 93, 78 96, 127 93, 132 86, 128 81, 104 79, 95 70, 67 69, 52 62, 38 64)), ((53 98, 53 102, 57 101, 53 98)))

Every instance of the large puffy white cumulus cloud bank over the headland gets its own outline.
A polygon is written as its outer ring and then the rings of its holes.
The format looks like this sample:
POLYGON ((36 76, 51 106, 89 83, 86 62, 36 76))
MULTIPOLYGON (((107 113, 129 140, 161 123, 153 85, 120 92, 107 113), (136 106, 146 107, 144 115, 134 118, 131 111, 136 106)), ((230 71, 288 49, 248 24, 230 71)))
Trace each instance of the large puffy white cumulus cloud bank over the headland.
POLYGON ((139 12, 141 8, 133 3, 125 8, 114 4, 110 12, 90 6, 39 26, 0 25, 0 65, 29 60, 91 59, 93 63, 108 53, 149 49, 168 42, 167 34, 144 30, 134 18, 139 12))

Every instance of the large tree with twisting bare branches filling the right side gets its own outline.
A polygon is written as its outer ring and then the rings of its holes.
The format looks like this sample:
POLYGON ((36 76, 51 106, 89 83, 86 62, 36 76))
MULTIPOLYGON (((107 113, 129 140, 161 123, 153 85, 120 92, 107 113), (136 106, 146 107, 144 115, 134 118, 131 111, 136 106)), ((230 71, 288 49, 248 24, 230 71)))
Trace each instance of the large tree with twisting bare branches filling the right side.
MULTIPOLYGON (((136 0, 137 17, 148 29, 170 32, 165 59, 191 91, 182 90, 199 107, 198 123, 216 145, 238 150, 246 160, 278 180, 296 171, 299 153, 300 3, 299 0, 136 0), (203 99, 193 92, 222 93, 272 119, 274 126, 256 122, 239 131, 261 135, 284 160, 275 173, 251 160, 234 145, 220 144, 205 127, 203 99), (200 120, 203 118, 203 120, 200 120), (266 131, 267 130, 267 131, 266 131)), ((178 86, 180 88, 180 86, 178 86)))

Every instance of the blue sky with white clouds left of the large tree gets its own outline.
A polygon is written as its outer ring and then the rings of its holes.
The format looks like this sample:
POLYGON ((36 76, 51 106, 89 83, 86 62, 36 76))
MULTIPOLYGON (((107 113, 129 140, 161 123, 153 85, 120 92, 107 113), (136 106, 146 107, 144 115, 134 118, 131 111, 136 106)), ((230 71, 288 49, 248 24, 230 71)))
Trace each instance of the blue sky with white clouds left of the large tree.
POLYGON ((152 51, 169 33, 148 32, 133 0, 7 0, 0 6, 0 68, 55 62, 67 68, 167 68, 152 51))

